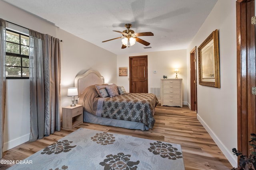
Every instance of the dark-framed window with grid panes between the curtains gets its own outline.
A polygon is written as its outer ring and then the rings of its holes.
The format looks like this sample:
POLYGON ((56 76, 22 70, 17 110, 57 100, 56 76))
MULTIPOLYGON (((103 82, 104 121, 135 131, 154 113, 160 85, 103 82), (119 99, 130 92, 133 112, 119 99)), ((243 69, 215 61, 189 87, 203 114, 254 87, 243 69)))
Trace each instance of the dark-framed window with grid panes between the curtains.
POLYGON ((6 79, 29 78, 29 36, 6 29, 6 79))

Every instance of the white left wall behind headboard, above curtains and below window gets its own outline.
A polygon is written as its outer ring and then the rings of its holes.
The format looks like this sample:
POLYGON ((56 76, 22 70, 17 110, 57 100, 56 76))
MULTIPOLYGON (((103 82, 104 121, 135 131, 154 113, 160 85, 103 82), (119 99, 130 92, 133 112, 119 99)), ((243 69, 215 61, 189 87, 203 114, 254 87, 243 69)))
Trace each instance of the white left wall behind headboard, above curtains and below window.
MULTIPOLYGON (((0 1, 0 18, 59 39, 61 43, 61 107, 71 103, 67 88, 74 86, 78 72, 98 70, 106 82, 117 83, 116 55, 88 43, 51 23, 41 20, 14 6, 0 1)), ((6 114, 4 123, 4 148, 11 149, 29 139, 30 88, 29 80, 6 80, 6 114)))

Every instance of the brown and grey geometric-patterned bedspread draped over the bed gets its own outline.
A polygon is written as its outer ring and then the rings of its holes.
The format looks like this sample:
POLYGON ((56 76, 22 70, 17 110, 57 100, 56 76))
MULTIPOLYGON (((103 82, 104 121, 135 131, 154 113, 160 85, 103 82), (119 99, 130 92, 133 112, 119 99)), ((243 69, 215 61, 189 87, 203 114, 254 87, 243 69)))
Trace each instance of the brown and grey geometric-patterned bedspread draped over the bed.
POLYGON ((150 93, 127 93, 112 98, 99 98, 96 115, 136 121, 152 129, 155 123, 153 110, 156 104, 156 96, 150 93))

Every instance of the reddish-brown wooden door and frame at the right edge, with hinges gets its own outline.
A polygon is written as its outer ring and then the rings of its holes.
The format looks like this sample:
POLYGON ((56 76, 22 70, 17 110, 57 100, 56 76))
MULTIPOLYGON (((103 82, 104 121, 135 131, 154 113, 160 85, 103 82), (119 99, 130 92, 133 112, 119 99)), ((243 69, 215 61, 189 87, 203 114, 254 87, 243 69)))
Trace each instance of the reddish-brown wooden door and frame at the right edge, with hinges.
POLYGON ((256 133, 256 95, 252 94, 256 86, 255 25, 251 23, 254 3, 236 1, 238 150, 246 156, 252 148, 248 145, 250 133, 256 133))

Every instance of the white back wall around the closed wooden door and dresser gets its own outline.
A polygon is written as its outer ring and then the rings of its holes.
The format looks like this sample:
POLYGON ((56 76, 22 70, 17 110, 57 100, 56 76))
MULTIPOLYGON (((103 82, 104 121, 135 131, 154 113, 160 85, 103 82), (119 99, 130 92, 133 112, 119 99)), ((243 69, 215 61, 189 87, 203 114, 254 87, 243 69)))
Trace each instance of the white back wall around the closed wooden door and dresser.
MULTIPOLYGON (((140 45, 140 44, 138 44, 140 45)), ((130 47, 132 48, 132 47, 130 47)), ((126 49, 124 49, 126 50, 126 49)), ((128 50, 128 49, 127 49, 128 50)), ((167 78, 175 78, 174 69, 178 68, 178 78, 182 78, 183 84, 183 104, 187 105, 187 61, 186 61, 186 49, 172 50, 172 51, 159 51, 149 53, 132 53, 127 55, 117 56, 117 71, 119 67, 128 67, 128 76, 118 76, 118 85, 124 86, 127 92, 129 92, 129 57, 130 56, 148 56, 148 92, 150 87, 161 87, 160 79, 163 75, 167 78), (154 73, 156 70, 156 73, 154 73)), ((159 99, 160 100, 160 99, 159 99)))

